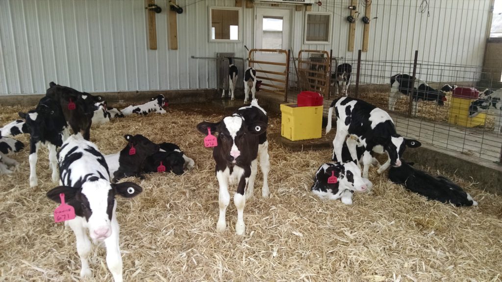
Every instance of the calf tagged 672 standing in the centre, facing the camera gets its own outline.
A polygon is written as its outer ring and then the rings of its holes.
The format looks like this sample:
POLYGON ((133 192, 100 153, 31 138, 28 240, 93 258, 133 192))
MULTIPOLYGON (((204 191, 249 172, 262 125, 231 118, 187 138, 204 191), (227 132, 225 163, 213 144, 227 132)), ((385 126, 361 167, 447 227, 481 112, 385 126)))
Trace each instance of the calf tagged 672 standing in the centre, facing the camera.
POLYGON ((235 232, 238 235, 245 233, 244 206, 246 199, 253 196, 258 159, 263 173, 262 196, 269 197, 268 120, 267 112, 258 105, 258 100, 254 99, 250 106, 239 108, 219 122, 204 121, 197 124, 197 129, 203 134, 208 133, 208 128, 211 132, 219 132, 218 146, 213 149, 216 179, 219 184, 219 218, 216 224, 216 230, 219 232, 226 229, 225 213, 230 202, 228 185, 237 184, 237 192, 233 197, 237 208, 235 232))

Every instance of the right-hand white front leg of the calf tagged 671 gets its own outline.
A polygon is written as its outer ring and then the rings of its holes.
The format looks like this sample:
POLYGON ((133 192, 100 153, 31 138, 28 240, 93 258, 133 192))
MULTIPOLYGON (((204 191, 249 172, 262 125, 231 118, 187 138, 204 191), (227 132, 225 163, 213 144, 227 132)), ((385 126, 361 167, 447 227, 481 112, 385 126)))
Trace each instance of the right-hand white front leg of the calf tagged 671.
POLYGON ((122 282, 122 257, 119 246, 119 227, 115 210, 111 218, 111 235, 104 240, 106 246, 106 265, 113 276, 115 282, 122 282))

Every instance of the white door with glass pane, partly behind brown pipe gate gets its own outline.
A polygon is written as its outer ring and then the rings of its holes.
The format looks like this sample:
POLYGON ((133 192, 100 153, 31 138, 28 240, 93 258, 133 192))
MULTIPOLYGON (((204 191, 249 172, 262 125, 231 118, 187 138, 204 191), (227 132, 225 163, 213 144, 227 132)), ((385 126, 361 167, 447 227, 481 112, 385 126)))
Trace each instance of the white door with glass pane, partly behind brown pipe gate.
MULTIPOLYGON (((289 49, 290 25, 291 25, 291 10, 288 9, 271 9, 271 8, 257 8, 255 17, 255 48, 256 49, 289 49)), ((286 63, 286 56, 283 53, 273 52, 256 52, 254 54, 256 61, 286 63)), ((286 67, 269 65, 269 64, 255 64, 257 70, 267 70, 274 72, 284 72, 286 67)), ((284 79, 284 77, 270 74, 261 73, 257 75, 262 78, 264 89, 274 89, 268 87, 267 84, 284 88, 284 83, 276 81, 284 79), (276 79, 268 80, 267 78, 276 79)))

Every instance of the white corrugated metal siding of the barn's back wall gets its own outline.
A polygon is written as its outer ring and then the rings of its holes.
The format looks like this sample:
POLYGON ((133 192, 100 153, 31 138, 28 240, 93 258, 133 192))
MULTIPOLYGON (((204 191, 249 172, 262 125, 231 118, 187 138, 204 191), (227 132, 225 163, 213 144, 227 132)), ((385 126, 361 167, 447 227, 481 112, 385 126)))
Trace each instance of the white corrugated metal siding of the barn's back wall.
MULTIPOLYGON (((378 19, 371 21, 362 58, 412 60, 418 49, 423 61, 480 66, 489 2, 429 1, 427 17, 418 11, 420 1, 373 0, 371 18, 378 19)), ((168 0, 157 4, 163 8, 156 15, 158 50, 150 50, 143 0, 0 0, 0 95, 44 93, 49 81, 88 92, 215 88, 215 61, 190 56, 247 57, 244 45, 254 46, 254 9, 245 3, 242 42, 210 43, 208 7, 233 7, 235 1, 178 0, 185 7, 178 15, 179 49, 169 50, 168 0)), ((333 49, 337 57, 355 59, 357 52, 347 51, 348 5, 343 0, 313 6, 333 15, 331 44, 317 45, 303 44, 305 9, 292 9, 295 56, 300 49, 333 49)), ((360 18, 355 50, 362 46, 360 18)))

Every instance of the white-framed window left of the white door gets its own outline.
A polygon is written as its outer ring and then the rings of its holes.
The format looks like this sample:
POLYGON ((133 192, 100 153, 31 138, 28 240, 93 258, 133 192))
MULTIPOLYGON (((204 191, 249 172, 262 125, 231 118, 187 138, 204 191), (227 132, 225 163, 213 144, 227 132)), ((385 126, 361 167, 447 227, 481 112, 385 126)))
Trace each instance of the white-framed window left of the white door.
POLYGON ((241 38, 240 9, 209 8, 209 41, 239 41, 241 38))

